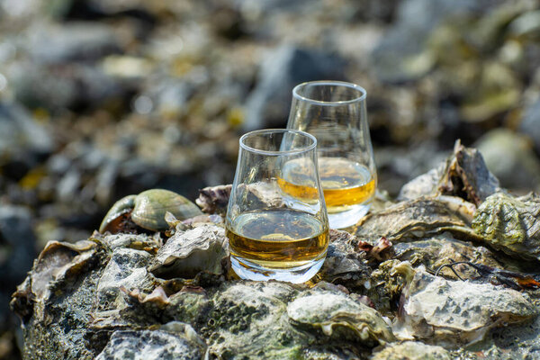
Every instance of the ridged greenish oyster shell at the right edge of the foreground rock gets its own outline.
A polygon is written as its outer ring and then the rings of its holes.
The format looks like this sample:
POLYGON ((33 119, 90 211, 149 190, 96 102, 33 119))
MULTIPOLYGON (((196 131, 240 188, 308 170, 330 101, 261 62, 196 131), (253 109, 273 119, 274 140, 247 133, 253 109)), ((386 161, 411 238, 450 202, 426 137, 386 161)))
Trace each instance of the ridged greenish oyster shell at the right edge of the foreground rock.
POLYGON ((540 197, 495 193, 476 211, 473 229, 510 256, 540 260, 540 197))

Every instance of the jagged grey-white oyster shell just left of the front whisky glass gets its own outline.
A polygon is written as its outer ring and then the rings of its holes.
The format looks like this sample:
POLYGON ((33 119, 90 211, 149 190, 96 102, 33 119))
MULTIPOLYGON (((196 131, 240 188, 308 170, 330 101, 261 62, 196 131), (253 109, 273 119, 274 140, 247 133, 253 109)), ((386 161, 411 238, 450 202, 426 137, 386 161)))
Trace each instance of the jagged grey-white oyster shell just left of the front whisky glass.
POLYGON ((161 278, 191 279, 202 271, 220 275, 229 257, 225 229, 201 223, 194 229, 176 231, 157 251, 150 271, 161 278))

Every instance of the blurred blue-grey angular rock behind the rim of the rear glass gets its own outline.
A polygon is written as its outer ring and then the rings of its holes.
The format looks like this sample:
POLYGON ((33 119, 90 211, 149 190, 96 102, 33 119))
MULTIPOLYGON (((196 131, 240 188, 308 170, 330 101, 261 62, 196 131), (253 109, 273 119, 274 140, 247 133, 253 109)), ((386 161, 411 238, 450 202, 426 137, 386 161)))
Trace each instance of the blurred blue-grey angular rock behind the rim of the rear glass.
POLYGON ((344 79, 345 60, 314 49, 284 45, 266 58, 246 101, 244 130, 284 127, 293 87, 312 80, 344 79))

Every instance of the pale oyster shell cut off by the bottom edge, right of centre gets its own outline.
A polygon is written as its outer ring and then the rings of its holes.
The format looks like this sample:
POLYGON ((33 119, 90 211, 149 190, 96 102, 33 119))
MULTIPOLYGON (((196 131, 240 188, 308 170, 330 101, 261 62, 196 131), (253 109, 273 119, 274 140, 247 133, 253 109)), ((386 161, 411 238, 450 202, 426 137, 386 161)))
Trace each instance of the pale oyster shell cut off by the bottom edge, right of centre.
POLYGON ((391 344, 374 354, 371 360, 451 360, 444 347, 426 345, 419 341, 391 344))

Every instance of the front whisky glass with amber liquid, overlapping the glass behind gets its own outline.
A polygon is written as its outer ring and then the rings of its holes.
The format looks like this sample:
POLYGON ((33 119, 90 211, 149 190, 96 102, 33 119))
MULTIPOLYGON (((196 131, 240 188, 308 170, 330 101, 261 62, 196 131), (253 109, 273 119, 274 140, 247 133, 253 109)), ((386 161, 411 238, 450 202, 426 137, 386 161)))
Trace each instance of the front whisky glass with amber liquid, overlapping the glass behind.
POLYGON ((241 278, 297 284, 322 266, 329 220, 316 148, 317 139, 299 130, 256 130, 240 138, 226 228, 230 263, 241 278), (291 166, 302 166, 309 192, 284 193, 291 166))

